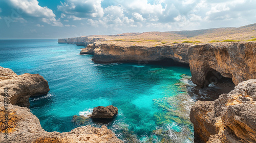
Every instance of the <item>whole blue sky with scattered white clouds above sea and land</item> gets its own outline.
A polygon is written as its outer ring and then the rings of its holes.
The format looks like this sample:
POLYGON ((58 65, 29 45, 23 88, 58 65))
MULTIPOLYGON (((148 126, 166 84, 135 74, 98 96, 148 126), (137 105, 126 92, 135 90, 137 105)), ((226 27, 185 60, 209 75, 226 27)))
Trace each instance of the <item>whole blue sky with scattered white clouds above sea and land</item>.
POLYGON ((0 39, 55 39, 256 23, 256 0, 1 0, 0 39))

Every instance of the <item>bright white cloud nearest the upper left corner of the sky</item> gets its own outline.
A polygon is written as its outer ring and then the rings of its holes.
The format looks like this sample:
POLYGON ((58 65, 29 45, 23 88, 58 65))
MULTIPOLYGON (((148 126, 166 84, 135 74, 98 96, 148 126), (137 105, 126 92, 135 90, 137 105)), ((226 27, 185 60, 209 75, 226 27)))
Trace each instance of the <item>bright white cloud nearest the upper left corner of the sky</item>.
POLYGON ((15 7, 22 9, 26 14, 33 17, 55 17, 53 11, 47 7, 41 7, 38 5, 37 0, 9 0, 15 7))

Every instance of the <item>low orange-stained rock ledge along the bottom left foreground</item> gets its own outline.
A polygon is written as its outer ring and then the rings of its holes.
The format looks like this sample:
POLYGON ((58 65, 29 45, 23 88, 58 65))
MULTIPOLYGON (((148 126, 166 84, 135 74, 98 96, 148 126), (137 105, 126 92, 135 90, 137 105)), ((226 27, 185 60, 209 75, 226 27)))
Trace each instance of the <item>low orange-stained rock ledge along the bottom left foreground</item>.
MULTIPOLYGON (((6 111, 0 103, 0 130, 5 132, 6 111)), ((102 126, 101 128, 82 126, 70 132, 46 132, 38 118, 26 107, 8 104, 8 133, 0 134, 0 142, 123 142, 115 134, 102 126)))

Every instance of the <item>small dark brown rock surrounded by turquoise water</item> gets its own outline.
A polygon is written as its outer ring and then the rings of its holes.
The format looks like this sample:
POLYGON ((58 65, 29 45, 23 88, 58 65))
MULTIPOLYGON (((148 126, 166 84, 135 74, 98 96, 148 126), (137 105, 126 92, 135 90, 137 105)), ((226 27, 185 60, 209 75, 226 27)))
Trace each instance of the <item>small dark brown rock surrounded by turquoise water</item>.
POLYGON ((91 118, 109 118, 112 119, 115 115, 117 115, 117 107, 110 105, 110 106, 98 106, 93 108, 93 113, 91 118))

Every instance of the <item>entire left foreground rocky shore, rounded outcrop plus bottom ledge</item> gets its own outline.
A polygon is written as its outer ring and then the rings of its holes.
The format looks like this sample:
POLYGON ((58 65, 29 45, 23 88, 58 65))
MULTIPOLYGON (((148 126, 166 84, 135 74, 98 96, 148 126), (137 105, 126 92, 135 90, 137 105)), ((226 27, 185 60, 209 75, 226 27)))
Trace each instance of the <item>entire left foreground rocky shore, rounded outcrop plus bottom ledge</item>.
POLYGON ((30 109, 20 106, 29 106, 30 96, 48 91, 48 82, 39 74, 17 75, 11 69, 0 67, 0 142, 123 142, 105 126, 46 132, 30 109), (8 99, 4 97, 4 88, 8 88, 8 99))

